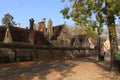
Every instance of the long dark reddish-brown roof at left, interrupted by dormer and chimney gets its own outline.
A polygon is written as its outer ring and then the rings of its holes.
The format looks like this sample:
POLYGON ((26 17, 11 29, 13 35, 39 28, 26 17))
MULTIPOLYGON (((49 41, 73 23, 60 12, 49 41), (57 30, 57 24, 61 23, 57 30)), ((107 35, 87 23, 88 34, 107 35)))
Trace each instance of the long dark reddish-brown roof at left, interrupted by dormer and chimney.
MULTIPOLYGON (((7 27, 0 27, 0 42, 3 42, 4 37, 5 37, 5 32, 6 32, 7 27)), ((25 29, 25 28, 20 28, 20 27, 13 27, 9 26, 11 35, 12 35, 12 40, 14 42, 27 42, 29 43, 29 37, 31 30, 30 29, 25 29)), ((44 34, 40 31, 34 31, 34 43, 35 45, 46 45, 46 46, 51 46, 49 41, 44 37, 44 34)))

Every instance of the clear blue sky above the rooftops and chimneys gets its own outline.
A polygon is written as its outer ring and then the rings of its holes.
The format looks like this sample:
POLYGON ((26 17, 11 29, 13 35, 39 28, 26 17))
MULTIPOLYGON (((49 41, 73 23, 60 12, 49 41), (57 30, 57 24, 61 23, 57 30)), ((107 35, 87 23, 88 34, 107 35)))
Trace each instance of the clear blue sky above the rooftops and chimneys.
POLYGON ((46 25, 51 18, 53 25, 59 25, 66 22, 73 25, 70 19, 63 19, 60 10, 65 7, 61 0, 0 0, 0 25, 4 14, 10 13, 16 23, 22 27, 29 26, 29 19, 34 18, 35 23, 46 18, 46 25))

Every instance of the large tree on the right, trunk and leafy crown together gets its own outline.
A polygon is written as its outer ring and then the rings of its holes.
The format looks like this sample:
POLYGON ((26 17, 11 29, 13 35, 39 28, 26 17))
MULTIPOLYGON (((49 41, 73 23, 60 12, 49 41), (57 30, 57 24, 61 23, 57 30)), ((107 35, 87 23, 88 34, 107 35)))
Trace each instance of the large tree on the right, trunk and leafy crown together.
MULTIPOLYGON (((65 2, 67 0, 62 0, 65 2)), ((109 31, 111 48, 111 69, 114 66, 115 53, 117 53, 117 38, 115 17, 120 16, 120 0, 69 0, 68 5, 60 12, 64 18, 72 18, 78 24, 86 24, 95 15, 98 25, 106 24, 109 31)))

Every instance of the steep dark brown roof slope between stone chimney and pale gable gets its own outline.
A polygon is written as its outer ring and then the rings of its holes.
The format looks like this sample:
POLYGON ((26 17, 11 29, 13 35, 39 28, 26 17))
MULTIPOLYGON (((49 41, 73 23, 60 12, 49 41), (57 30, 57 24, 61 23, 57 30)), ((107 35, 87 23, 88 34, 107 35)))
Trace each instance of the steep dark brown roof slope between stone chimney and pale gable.
POLYGON ((62 29, 64 28, 64 24, 62 25, 57 25, 53 27, 53 36, 52 36, 52 40, 57 40, 57 37, 60 35, 62 29))

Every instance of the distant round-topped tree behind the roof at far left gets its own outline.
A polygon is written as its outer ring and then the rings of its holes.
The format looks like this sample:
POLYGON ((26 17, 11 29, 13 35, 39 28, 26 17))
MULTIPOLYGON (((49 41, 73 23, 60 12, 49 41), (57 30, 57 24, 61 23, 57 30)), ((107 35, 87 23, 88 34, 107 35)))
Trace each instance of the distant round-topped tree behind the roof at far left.
POLYGON ((14 26, 15 22, 13 21, 14 17, 7 13, 4 15, 4 17, 2 18, 2 24, 5 26, 14 26))

